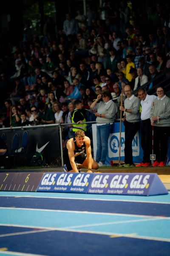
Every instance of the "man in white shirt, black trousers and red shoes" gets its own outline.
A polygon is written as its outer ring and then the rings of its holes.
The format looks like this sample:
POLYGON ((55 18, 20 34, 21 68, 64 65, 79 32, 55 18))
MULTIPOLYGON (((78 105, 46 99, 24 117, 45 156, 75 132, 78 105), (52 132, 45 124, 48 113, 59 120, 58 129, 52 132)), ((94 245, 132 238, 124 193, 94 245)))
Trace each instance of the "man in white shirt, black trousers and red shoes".
POLYGON ((150 154, 152 151, 152 126, 150 124, 150 109, 153 104, 153 100, 156 99, 155 95, 148 95, 147 92, 140 88, 138 90, 138 96, 141 99, 141 146, 143 149, 143 161, 136 165, 136 167, 148 167, 150 164, 150 154))

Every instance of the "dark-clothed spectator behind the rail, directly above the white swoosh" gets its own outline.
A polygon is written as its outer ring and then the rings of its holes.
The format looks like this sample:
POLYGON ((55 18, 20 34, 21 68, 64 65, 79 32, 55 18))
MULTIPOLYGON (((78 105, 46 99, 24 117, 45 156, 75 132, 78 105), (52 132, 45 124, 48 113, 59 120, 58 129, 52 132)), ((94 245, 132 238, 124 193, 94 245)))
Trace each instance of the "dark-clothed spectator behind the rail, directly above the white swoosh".
POLYGON ((47 105, 44 102, 38 103, 39 114, 37 118, 37 123, 40 125, 54 124, 55 117, 54 112, 51 109, 48 109, 47 105))

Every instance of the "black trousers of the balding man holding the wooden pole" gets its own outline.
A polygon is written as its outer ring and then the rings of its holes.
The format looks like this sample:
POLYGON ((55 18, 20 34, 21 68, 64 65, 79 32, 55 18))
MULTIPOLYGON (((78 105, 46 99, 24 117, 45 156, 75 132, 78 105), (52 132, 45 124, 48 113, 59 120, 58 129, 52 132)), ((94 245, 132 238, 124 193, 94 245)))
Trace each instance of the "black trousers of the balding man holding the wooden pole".
POLYGON ((139 130, 140 122, 127 122, 125 120, 125 163, 133 164, 132 141, 139 130))

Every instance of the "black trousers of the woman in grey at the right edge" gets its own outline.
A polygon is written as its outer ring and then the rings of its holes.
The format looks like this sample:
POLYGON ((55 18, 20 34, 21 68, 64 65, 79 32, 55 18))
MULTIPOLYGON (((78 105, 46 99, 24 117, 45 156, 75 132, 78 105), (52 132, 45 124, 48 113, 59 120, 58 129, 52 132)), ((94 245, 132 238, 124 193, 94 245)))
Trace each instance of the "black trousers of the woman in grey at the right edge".
POLYGON ((156 154, 156 160, 161 162, 165 160, 168 148, 168 138, 170 136, 170 127, 153 127, 153 153, 156 154))

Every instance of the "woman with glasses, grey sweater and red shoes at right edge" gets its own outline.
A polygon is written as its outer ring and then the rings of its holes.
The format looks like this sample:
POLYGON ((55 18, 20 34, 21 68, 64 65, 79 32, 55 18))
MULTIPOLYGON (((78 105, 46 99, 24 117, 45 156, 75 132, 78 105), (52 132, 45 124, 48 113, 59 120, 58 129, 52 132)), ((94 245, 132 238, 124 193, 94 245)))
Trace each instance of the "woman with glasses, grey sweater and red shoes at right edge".
POLYGON ((164 88, 156 88, 157 99, 154 100, 154 107, 150 109, 150 120, 153 125, 153 153, 156 154, 156 160, 152 166, 165 166, 165 157, 167 154, 167 142, 170 136, 170 98, 164 93, 164 88))

